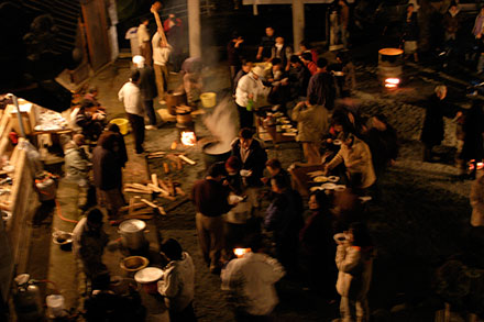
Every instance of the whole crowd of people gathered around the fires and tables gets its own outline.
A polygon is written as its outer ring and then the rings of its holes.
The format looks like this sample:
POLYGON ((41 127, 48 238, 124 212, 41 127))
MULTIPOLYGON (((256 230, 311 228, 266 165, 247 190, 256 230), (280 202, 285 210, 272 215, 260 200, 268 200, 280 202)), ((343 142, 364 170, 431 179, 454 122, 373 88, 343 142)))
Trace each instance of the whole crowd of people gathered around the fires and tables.
MULTIPOLYGON (((344 9, 346 4, 341 0, 340 5, 344 9)), ((417 60, 415 24, 409 5, 405 53, 417 60)), ((146 36, 146 25, 144 21, 139 27, 142 56, 133 58, 135 68, 118 93, 133 130, 136 154, 144 152, 145 129, 156 125, 153 100, 163 100, 167 90, 169 59, 185 70, 184 87, 193 107, 198 104, 202 84, 201 64, 187 59, 184 67, 179 53, 173 54, 176 49, 169 33, 180 33, 182 21, 170 16, 153 38, 146 36)), ((449 26, 451 40, 451 21, 449 26)), ((344 27, 341 32, 346 38, 344 27)), ((296 52, 272 26, 265 29, 254 57, 242 55, 243 44, 238 33, 228 44, 239 136, 231 144, 231 156, 211 165, 205 178, 194 184, 190 196, 207 267, 220 275, 237 321, 270 321, 278 302, 275 285, 280 279, 302 282, 328 303, 340 299, 342 321, 369 321, 367 292, 376 251, 365 224, 365 202, 378 202, 382 197, 381 181, 398 156, 397 133, 384 114, 360 114, 351 98, 356 79, 346 51, 339 52, 331 63, 305 41, 296 52), (264 144, 255 137, 255 112, 267 106, 297 123, 296 141, 304 159, 288 170, 279 159, 268 158, 264 144), (337 175, 345 189, 311 191, 305 206, 301 187, 292 176, 310 166, 320 166, 324 176, 337 175)), ((75 120, 82 134, 65 145, 66 173, 87 190, 82 210, 98 203, 110 218, 117 218, 125 204, 121 188, 128 153, 120 129, 109 124, 105 130, 106 113, 96 95, 97 89, 90 89, 77 111, 75 120), (91 157, 81 147, 86 138, 97 141, 91 157), (94 179, 89 179, 90 168, 94 179)), ((422 159, 435 162, 432 149, 443 140, 443 116, 455 115, 462 141, 458 153, 461 177, 474 179, 484 157, 482 104, 475 101, 463 111, 447 103, 446 97, 447 88, 438 86, 426 104, 422 159), (469 163, 473 165, 470 174, 469 163)), ((484 225, 483 187, 481 177, 472 188, 475 226, 484 225)), ((109 275, 102 264, 108 244, 102 221, 99 209, 91 209, 74 231, 75 253, 94 288, 102 288, 109 275)), ((193 259, 176 240, 165 241, 161 251, 168 264, 157 290, 165 298, 170 321, 196 321, 193 259)))

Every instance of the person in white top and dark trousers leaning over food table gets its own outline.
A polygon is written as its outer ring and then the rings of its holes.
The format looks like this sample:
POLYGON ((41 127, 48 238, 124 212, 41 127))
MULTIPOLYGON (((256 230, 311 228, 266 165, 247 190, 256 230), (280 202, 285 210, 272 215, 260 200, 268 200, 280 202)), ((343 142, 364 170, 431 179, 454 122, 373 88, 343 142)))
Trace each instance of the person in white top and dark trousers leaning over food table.
POLYGON ((251 73, 239 80, 235 90, 235 104, 239 110, 240 129, 254 127, 253 109, 257 101, 266 98, 271 87, 265 87, 261 78, 265 71, 261 66, 252 68, 251 73))

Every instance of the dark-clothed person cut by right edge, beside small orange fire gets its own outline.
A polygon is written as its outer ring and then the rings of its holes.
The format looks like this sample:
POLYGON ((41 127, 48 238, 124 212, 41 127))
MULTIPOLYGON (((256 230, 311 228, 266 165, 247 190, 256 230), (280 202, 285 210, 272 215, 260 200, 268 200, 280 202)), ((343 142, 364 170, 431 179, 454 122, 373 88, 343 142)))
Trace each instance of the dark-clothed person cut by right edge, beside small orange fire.
POLYGON ((466 111, 462 124, 462 132, 464 135, 464 144, 458 157, 460 173, 462 178, 473 180, 477 171, 477 163, 481 163, 484 158, 484 113, 482 110, 482 101, 474 100, 471 109, 466 111), (472 162, 472 170, 469 176, 466 176, 469 162, 472 162))

